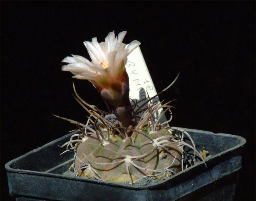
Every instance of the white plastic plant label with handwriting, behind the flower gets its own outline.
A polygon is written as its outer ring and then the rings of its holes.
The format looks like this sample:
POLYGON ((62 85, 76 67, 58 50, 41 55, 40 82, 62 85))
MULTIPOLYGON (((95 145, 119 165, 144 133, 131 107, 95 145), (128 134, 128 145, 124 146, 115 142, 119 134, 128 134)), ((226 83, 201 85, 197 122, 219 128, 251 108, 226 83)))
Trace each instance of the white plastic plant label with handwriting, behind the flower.
MULTIPOLYGON (((132 53, 128 56, 126 72, 129 75, 130 99, 132 99, 134 102, 138 102, 146 98, 146 100, 138 103, 139 106, 148 101, 148 96, 151 98, 157 94, 156 88, 154 87, 151 76, 148 72, 145 60, 142 56, 142 52, 140 51, 140 47, 133 50, 132 53)), ((131 101, 132 105, 134 104, 133 101, 131 101)), ((160 103, 158 96, 152 100, 152 103, 160 103)), ((144 105, 142 108, 147 108, 147 105, 144 105)), ((135 110, 136 109, 138 109, 138 107, 136 107, 135 110)), ((155 118, 159 117, 162 112, 163 109, 160 109, 158 113, 156 113, 155 118)), ((165 115, 162 115, 160 121, 166 121, 165 115)))

